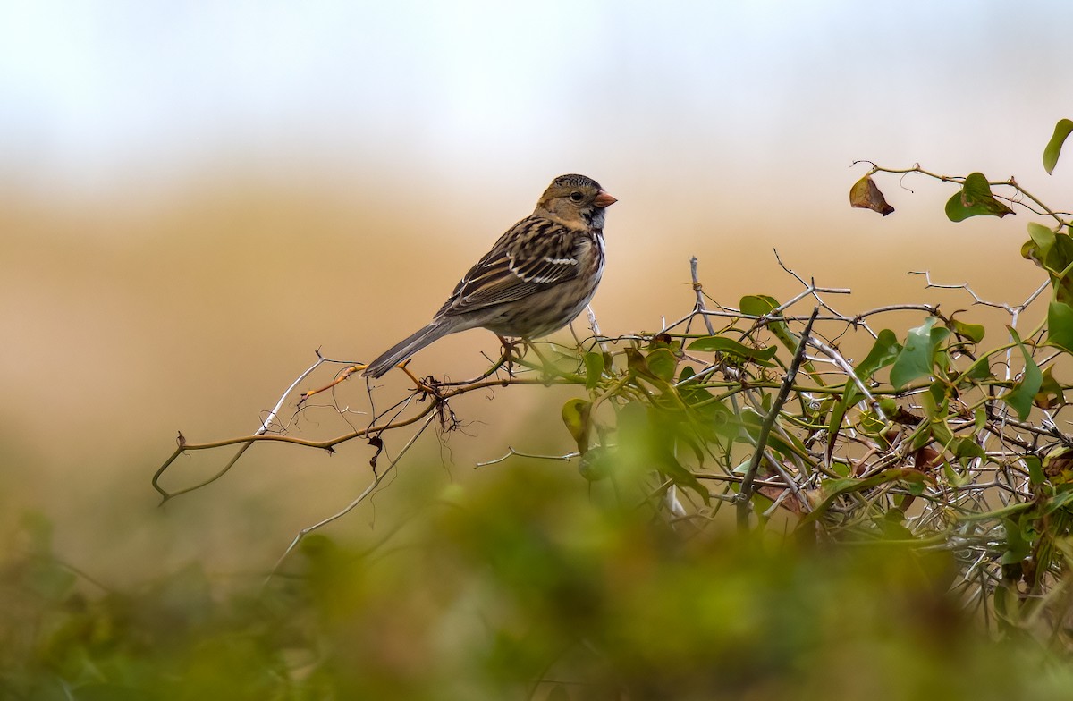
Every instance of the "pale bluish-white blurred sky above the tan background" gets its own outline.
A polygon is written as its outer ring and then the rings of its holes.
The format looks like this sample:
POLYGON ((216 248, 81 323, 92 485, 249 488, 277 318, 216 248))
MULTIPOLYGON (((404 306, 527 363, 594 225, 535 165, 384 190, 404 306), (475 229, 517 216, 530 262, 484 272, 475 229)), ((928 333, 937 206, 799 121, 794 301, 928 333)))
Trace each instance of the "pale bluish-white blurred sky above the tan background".
POLYGON ((1073 115, 1073 3, 655 6, 9 0, 0 170, 78 188, 232 159, 529 184, 1010 167, 1073 115))

